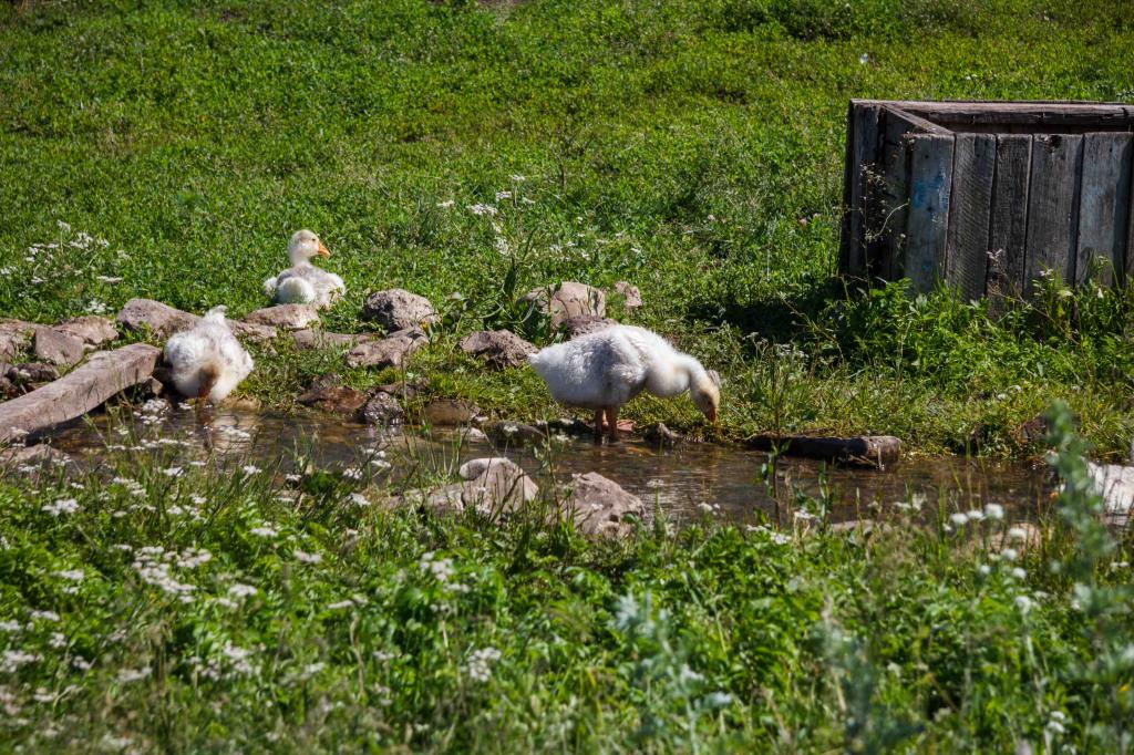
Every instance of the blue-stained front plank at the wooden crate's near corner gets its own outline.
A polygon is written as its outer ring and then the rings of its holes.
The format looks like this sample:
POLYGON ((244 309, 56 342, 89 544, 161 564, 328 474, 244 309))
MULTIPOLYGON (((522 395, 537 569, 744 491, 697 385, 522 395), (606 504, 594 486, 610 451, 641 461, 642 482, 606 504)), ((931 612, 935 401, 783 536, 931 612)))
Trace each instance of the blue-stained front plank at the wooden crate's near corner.
POLYGON ((924 292, 933 288, 946 270, 953 137, 919 134, 912 138, 904 268, 912 289, 924 292))

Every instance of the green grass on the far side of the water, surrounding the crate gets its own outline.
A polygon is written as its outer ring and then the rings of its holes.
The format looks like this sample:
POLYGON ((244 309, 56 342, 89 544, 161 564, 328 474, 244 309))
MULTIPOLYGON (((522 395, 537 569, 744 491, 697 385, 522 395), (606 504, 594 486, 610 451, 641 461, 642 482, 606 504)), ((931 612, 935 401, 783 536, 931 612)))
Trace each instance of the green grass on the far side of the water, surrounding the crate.
MULTIPOLYGON (((449 325, 412 368, 497 415, 555 409, 456 338, 528 287, 625 279, 646 300, 633 321, 725 374, 726 438, 1027 455, 1015 429, 1061 397, 1117 456, 1134 433, 1125 292, 1059 331, 1050 307, 990 322, 946 295, 890 302, 880 336, 839 320, 871 305, 832 277, 849 97, 1131 101, 1132 41, 1101 0, 5 3, 0 312, 147 296, 239 315, 310 227, 349 287, 327 326, 363 328, 371 290, 430 297, 449 325), (107 244, 68 246, 77 231, 107 244)), ((272 404, 310 376, 281 354, 249 383, 272 404)), ((628 416, 703 432, 685 401, 628 416)))

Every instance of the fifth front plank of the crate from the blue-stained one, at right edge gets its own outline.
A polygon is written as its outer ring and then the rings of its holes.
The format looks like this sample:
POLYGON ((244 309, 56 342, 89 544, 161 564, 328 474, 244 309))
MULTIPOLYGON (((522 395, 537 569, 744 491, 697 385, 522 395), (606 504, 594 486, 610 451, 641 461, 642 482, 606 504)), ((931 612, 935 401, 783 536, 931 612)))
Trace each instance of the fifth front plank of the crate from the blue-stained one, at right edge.
POLYGON ((1110 286, 1125 270, 1129 212, 1131 134, 1102 133, 1083 137, 1083 181, 1078 203, 1078 249, 1075 282, 1086 282, 1092 270, 1110 286), (1106 262, 1097 265, 1097 257, 1106 262))

